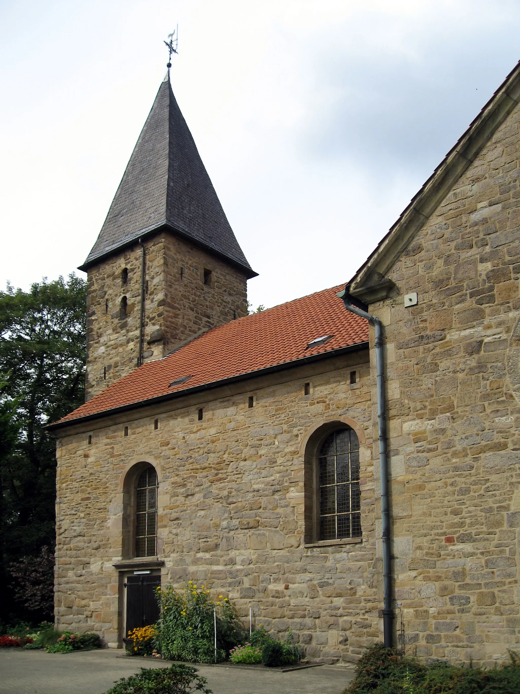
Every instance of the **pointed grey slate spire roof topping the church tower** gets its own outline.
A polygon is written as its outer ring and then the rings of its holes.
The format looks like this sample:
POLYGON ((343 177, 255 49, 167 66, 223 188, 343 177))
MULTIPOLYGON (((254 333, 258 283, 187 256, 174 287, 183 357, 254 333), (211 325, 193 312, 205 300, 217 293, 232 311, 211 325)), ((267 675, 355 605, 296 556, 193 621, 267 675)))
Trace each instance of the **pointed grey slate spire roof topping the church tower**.
POLYGON ((245 258, 175 101, 169 76, 159 87, 103 228, 80 267, 161 228, 257 275, 245 258))

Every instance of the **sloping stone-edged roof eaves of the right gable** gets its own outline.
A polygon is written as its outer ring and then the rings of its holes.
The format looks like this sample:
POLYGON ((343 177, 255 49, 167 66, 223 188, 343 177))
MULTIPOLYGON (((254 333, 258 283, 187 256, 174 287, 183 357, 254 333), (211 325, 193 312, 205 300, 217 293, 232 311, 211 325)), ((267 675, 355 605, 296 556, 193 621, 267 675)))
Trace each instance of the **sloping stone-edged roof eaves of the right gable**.
POLYGON ((447 193, 476 159, 489 138, 520 103, 520 61, 487 101, 455 146, 412 198, 388 233, 347 283, 352 296, 370 296, 370 285, 381 280, 447 193), (367 291, 368 290, 368 291, 367 291))

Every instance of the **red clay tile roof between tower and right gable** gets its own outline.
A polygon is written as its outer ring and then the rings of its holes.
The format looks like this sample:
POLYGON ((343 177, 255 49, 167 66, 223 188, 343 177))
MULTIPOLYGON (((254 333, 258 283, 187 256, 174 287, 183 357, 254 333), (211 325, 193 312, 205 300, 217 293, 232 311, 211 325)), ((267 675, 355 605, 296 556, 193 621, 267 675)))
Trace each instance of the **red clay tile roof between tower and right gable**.
POLYGON ((261 369, 290 366, 297 359, 367 342, 367 321, 347 312, 336 296, 344 286, 324 289, 219 325, 168 357, 143 364, 51 428, 169 393, 189 392, 226 378, 243 374, 252 378, 261 369), (326 335, 332 337, 324 344, 306 348, 311 340, 326 335), (170 386, 183 376, 191 378, 170 386))

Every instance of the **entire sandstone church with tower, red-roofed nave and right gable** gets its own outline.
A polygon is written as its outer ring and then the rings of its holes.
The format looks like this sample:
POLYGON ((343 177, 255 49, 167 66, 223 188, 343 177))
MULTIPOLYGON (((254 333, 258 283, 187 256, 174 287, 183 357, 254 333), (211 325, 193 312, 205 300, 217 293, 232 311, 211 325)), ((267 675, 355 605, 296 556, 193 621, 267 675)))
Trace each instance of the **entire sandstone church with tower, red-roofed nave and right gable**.
POLYGON ((205 582, 314 661, 520 651, 520 64, 346 286, 254 277, 162 83, 87 282, 55 618, 121 648, 205 582), (379 439, 379 440, 378 440, 379 439))

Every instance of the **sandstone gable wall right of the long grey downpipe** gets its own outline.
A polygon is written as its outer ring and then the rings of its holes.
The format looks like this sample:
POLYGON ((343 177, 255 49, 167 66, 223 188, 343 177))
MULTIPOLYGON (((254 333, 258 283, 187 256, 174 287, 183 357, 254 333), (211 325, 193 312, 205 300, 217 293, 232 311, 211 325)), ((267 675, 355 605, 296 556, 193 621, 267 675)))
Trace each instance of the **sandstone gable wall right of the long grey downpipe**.
POLYGON ((396 262, 399 296, 370 306, 386 335, 395 597, 422 657, 520 649, 519 122, 517 107, 396 262))

